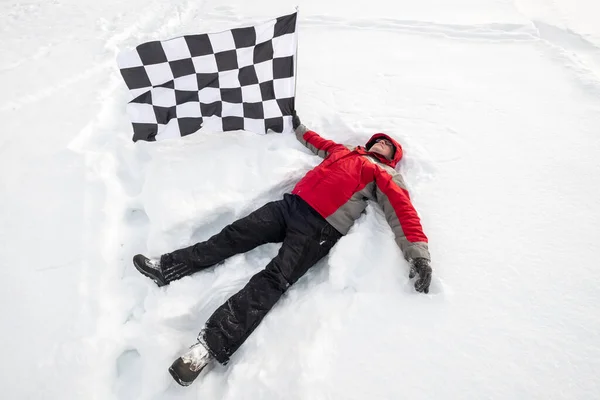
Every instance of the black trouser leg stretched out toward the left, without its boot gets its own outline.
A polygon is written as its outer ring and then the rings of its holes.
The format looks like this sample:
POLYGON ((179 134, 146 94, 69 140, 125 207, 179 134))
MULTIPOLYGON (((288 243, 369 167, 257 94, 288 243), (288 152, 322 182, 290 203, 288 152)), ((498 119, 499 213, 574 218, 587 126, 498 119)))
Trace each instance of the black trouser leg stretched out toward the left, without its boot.
POLYGON ((167 281, 190 275, 262 244, 283 241, 287 213, 285 199, 269 202, 204 242, 162 255, 160 265, 167 281))

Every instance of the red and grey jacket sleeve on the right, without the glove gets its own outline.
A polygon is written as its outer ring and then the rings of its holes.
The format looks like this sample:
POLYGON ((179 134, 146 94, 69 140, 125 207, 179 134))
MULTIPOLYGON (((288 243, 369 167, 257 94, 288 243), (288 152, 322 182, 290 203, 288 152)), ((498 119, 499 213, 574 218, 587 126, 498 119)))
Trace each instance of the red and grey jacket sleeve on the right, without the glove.
POLYGON ((377 168, 375 172, 375 197, 390 224, 396 244, 404 258, 431 260, 427 236, 423 232, 417 211, 402 176, 392 168, 377 168))

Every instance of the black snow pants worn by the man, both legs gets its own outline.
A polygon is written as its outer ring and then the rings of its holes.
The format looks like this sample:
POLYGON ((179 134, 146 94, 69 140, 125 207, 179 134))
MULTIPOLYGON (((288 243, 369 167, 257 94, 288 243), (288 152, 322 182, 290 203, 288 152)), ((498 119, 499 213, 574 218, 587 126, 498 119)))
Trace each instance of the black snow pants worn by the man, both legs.
POLYGON ((277 256, 221 305, 201 331, 200 340, 225 364, 287 288, 329 253, 341 236, 304 200, 285 194, 207 241, 163 256, 161 262, 185 264, 187 275, 259 245, 283 242, 277 256))

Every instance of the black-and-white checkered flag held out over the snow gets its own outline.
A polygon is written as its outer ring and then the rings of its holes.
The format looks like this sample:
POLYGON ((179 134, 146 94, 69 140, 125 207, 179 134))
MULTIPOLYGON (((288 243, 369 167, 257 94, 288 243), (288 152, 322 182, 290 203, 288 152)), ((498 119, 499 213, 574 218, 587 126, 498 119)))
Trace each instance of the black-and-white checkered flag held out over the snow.
POLYGON ((133 141, 200 128, 292 132, 297 13, 244 28, 143 43, 117 62, 133 141))

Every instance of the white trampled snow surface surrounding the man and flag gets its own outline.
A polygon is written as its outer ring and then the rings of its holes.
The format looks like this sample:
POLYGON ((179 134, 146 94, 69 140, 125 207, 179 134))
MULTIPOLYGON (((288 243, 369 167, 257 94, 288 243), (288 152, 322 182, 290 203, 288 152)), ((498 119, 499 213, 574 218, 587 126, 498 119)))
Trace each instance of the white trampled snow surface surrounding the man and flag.
POLYGON ((0 3, 3 399, 597 399, 597 0, 0 3), (434 281, 367 208, 227 366, 170 363, 276 254, 166 288, 136 253, 207 239, 320 159, 293 135, 131 141, 116 55, 299 5, 297 109, 399 140, 434 281))

